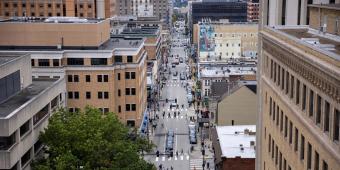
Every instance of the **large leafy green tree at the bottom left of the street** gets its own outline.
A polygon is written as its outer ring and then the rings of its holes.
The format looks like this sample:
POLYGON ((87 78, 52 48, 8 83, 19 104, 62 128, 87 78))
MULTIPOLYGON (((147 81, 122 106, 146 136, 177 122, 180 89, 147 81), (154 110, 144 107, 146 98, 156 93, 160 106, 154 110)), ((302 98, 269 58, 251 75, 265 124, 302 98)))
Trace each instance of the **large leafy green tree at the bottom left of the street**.
POLYGON ((90 107, 79 113, 60 110, 40 139, 47 156, 37 159, 33 169, 155 169, 139 154, 150 151, 153 144, 129 133, 114 113, 103 115, 90 107))

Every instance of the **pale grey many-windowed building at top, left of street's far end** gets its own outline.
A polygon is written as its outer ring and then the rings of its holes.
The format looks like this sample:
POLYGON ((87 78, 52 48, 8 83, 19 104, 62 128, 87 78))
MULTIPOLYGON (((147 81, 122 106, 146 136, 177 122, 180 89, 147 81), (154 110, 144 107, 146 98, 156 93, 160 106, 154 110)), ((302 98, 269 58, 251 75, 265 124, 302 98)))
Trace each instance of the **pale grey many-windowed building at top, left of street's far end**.
POLYGON ((135 15, 138 17, 168 17, 168 0, 116 0, 118 15, 135 15))

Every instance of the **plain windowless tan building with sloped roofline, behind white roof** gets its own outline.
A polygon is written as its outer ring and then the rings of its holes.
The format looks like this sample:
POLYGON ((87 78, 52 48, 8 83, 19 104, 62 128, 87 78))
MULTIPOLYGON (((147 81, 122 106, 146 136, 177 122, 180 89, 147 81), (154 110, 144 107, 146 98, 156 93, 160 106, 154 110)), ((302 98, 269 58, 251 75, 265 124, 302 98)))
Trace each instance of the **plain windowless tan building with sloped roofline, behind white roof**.
POLYGON ((257 115, 256 85, 241 85, 228 91, 217 103, 218 126, 255 125, 257 115))

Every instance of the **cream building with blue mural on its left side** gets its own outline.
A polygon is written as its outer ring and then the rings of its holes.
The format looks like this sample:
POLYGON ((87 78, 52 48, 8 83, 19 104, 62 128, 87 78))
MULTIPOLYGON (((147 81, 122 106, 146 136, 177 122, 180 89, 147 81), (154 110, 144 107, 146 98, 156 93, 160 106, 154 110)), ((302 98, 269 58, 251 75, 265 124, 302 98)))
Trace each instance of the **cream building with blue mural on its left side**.
POLYGON ((198 44, 200 62, 257 58, 255 23, 200 22, 194 29, 198 29, 194 31, 194 44, 198 44))

